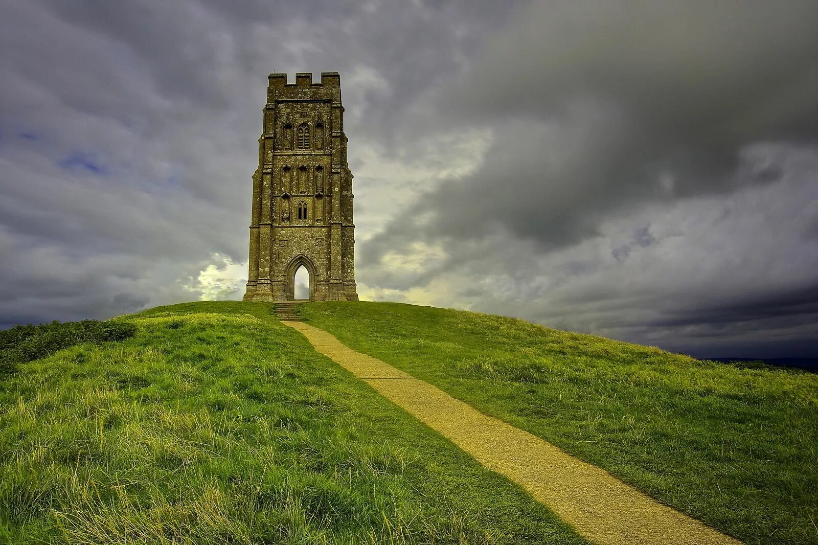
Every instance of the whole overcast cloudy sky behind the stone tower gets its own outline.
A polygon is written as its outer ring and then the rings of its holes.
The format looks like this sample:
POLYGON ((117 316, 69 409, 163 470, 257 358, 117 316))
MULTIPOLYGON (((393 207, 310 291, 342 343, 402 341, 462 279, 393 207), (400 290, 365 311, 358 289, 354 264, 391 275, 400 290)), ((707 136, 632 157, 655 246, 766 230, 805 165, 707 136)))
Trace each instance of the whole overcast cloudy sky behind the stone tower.
POLYGON ((818 356, 818 3, 0 0, 0 327, 240 299, 267 74, 341 74, 362 299, 818 356))

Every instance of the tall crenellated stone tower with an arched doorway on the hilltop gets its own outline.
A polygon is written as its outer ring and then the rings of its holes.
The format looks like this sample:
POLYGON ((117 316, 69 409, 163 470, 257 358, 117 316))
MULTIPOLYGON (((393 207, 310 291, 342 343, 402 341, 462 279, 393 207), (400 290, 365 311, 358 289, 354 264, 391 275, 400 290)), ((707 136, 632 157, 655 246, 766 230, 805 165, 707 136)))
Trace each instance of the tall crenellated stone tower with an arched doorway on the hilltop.
POLYGON ((293 300, 300 267, 311 300, 357 300, 354 231, 339 74, 270 74, 244 300, 293 300))

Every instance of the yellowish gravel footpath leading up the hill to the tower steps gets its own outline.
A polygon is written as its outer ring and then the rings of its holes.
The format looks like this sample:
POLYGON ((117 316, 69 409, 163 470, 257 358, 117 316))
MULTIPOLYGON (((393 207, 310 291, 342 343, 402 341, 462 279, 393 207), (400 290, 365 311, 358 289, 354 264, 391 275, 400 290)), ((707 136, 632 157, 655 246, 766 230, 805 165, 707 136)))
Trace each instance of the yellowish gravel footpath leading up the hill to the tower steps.
POLYGON ((522 486, 584 538, 600 544, 740 543, 663 506, 613 475, 554 445, 474 410, 428 382, 342 345, 304 322, 283 322, 386 399, 451 440, 492 471, 522 486))

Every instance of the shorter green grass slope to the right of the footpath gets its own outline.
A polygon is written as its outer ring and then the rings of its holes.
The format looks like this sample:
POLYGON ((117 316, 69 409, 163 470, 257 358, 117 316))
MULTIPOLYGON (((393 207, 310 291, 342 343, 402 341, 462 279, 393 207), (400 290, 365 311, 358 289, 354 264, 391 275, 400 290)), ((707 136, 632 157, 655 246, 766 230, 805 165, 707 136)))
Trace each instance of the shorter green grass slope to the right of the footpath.
POLYGON ((312 303, 344 344, 748 543, 818 543, 818 376, 497 316, 312 303))

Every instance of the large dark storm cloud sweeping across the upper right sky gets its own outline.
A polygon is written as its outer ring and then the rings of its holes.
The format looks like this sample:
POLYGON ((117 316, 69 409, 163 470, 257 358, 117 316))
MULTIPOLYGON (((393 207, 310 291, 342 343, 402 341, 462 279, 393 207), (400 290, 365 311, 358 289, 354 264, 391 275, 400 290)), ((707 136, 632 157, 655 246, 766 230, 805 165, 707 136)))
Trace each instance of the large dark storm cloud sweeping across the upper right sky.
POLYGON ((774 164, 736 172, 740 150, 815 139, 816 28, 815 2, 534 2, 439 93, 437 119, 495 139, 473 175, 419 201, 434 218, 418 228, 574 244, 619 206, 775 179, 774 164))

